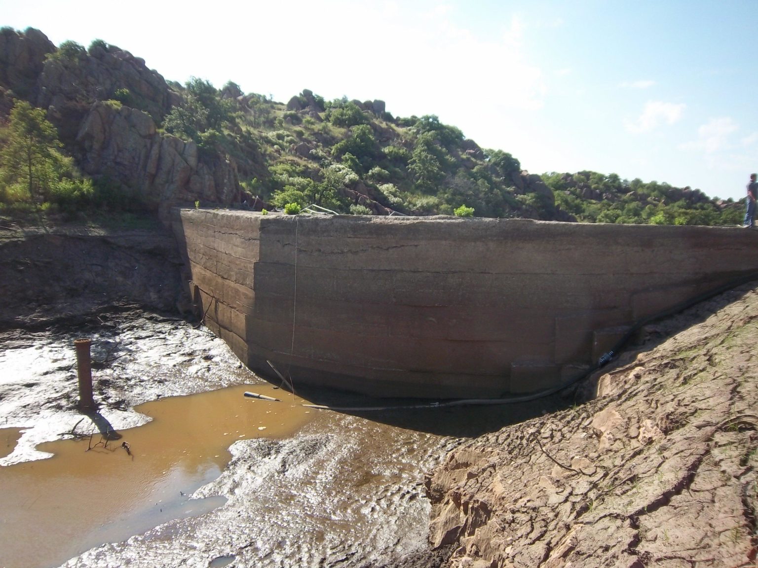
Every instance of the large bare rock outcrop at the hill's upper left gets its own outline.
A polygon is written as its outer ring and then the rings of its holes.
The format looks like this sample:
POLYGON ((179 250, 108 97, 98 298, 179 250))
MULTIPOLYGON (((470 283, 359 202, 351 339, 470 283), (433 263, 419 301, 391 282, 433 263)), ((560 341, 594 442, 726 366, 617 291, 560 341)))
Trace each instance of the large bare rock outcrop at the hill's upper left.
POLYGON ((180 96, 143 59, 115 45, 58 50, 39 30, 4 28, 0 89, 46 108, 81 170, 127 198, 158 208, 195 200, 230 204, 240 195, 232 158, 158 133, 156 124, 180 96), (121 103, 104 102, 111 98, 121 103))

